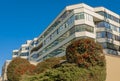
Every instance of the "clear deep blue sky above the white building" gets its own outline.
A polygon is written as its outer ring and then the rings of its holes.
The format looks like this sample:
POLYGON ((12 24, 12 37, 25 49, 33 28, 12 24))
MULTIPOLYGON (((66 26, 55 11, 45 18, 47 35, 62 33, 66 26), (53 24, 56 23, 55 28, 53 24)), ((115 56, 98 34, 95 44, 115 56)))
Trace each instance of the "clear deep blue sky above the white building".
POLYGON ((12 50, 39 36, 65 6, 81 2, 120 14, 119 0, 0 0, 0 74, 12 50))

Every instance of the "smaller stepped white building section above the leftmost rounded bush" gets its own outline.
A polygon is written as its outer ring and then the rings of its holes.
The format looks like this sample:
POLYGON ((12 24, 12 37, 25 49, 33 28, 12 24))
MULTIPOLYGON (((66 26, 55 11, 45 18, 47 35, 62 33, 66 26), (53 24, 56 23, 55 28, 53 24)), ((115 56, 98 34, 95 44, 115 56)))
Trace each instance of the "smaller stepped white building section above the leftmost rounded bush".
POLYGON ((32 42, 31 40, 27 40, 25 44, 21 45, 20 49, 13 50, 12 58, 21 57, 21 58, 24 58, 24 59, 28 59, 31 42, 32 42))

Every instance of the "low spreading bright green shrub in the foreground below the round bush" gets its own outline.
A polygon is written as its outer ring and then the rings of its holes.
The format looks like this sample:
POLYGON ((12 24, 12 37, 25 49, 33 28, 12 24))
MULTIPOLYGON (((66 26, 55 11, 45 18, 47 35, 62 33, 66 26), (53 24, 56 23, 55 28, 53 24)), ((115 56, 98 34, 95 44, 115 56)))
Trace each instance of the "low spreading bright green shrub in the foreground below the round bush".
POLYGON ((105 68, 79 68, 76 64, 67 63, 32 77, 24 77, 21 81, 105 81, 105 68))

